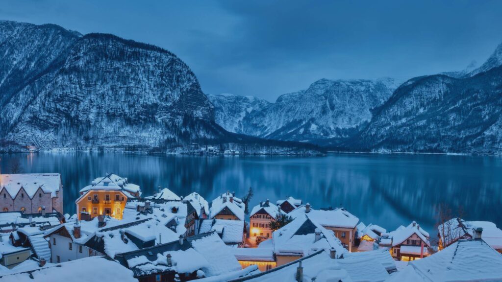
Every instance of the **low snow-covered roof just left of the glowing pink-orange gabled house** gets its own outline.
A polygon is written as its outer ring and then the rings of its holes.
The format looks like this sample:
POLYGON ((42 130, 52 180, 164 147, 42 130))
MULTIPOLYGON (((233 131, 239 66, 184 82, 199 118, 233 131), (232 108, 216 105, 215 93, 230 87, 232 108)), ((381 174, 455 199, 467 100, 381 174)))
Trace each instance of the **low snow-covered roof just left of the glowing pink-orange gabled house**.
POLYGON ((199 233, 215 231, 228 246, 242 247, 246 236, 243 220, 203 219, 199 233))

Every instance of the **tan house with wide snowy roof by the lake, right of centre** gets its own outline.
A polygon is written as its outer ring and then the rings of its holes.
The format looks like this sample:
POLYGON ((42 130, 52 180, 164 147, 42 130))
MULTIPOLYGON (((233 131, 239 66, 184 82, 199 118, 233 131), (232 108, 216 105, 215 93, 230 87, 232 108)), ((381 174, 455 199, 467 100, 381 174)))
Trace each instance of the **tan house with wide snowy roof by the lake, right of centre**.
POLYGON ((355 246, 359 219, 344 208, 314 210, 307 203, 290 212, 292 217, 307 216, 313 222, 331 230, 349 251, 355 246))

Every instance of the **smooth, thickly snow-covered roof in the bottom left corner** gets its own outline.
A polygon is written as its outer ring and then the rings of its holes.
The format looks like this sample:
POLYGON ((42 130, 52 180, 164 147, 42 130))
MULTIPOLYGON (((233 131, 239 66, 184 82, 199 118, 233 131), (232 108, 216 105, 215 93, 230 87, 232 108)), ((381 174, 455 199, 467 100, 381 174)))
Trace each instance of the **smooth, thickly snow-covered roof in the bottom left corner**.
MULTIPOLYGON (((2 274, 0 274, 2 275, 2 274)), ((45 267, 29 272, 9 274, 1 277, 2 282, 32 281, 138 281, 133 271, 100 256, 90 256, 58 264, 47 263, 45 267)))

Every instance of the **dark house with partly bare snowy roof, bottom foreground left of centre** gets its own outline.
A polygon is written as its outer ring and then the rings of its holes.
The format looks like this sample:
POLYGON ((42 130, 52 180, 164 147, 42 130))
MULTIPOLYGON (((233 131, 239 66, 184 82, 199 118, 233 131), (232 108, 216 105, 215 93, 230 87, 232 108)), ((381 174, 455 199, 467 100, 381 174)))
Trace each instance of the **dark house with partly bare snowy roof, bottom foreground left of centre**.
POLYGON ((241 269, 215 232, 117 254, 115 259, 133 270, 140 282, 181 281, 217 276, 241 269))

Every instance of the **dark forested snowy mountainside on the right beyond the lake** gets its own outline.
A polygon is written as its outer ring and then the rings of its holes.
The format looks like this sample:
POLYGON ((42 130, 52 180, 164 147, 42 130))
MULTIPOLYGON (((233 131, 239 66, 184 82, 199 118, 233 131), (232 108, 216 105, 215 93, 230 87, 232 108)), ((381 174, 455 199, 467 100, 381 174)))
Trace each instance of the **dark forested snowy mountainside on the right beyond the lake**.
POLYGON ((347 142, 351 148, 393 152, 502 152, 502 67, 455 79, 409 80, 347 142))

